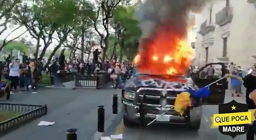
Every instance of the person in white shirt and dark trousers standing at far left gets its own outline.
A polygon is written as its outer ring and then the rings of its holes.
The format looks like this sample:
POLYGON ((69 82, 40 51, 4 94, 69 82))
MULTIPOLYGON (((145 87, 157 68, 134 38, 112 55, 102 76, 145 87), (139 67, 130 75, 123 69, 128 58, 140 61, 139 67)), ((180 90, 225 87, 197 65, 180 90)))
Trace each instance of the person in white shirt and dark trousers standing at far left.
POLYGON ((11 81, 11 86, 14 88, 14 90, 17 90, 18 82, 19 82, 19 70, 20 70, 20 64, 18 59, 14 60, 11 64, 9 64, 9 76, 8 80, 11 81))

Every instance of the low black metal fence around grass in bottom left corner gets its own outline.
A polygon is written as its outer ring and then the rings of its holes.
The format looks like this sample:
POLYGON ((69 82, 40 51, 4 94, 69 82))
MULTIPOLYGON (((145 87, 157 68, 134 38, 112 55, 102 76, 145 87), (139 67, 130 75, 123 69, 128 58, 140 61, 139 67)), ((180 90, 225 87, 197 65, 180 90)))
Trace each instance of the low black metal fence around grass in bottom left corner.
POLYGON ((5 135, 21 125, 47 114, 47 106, 0 103, 0 112, 17 113, 16 117, 0 122, 0 135, 5 135))

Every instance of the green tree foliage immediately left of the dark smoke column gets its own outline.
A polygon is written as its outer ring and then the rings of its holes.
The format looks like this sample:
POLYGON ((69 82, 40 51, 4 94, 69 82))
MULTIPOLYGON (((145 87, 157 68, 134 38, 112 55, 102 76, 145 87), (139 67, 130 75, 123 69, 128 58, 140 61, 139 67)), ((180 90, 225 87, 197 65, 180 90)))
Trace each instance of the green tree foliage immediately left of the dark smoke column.
POLYGON ((116 30, 116 40, 120 46, 120 61, 123 56, 131 60, 138 51, 138 39, 141 31, 138 22, 134 20, 136 5, 119 5, 113 11, 112 26, 116 30))

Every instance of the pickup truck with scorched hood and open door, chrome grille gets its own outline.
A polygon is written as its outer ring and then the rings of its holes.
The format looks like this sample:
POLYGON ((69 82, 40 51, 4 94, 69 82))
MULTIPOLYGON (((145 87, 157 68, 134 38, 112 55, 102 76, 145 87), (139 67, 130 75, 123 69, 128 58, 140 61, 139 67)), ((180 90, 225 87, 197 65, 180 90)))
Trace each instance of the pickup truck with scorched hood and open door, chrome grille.
POLYGON ((199 73, 209 65, 222 66, 224 76, 224 63, 210 63, 194 73, 192 77, 172 75, 147 75, 133 73, 126 81, 122 90, 123 122, 126 127, 145 125, 155 120, 154 123, 186 124, 191 129, 200 128, 202 105, 220 104, 224 102, 224 94, 227 89, 227 79, 223 78, 210 88, 210 96, 207 99, 193 98, 183 115, 174 110, 174 102, 177 95, 186 91, 187 88, 204 87, 218 79, 200 79, 199 73))

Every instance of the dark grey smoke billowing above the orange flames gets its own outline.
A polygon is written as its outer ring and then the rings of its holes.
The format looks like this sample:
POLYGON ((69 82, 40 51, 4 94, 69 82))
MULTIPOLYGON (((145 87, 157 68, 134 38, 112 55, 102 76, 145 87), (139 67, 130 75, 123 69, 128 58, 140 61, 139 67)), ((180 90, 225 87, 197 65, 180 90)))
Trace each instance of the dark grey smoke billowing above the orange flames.
POLYGON ((179 25, 186 36, 189 10, 199 13, 210 0, 146 0, 138 8, 136 18, 140 23, 143 37, 154 31, 161 22, 179 25))

